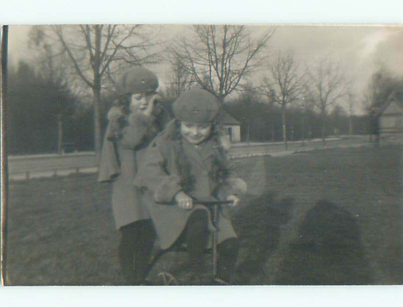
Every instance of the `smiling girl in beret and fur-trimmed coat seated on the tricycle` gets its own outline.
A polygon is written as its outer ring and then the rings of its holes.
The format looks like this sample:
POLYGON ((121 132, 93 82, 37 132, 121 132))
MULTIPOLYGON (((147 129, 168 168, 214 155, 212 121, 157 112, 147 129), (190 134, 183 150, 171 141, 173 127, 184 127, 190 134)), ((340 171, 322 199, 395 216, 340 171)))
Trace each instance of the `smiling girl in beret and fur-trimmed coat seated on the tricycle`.
MULTIPOLYGON (((145 203, 161 248, 185 241, 189 264, 199 272, 204 249, 211 247, 208 238, 214 227, 209 209, 194 201, 232 200, 236 205, 237 194, 246 191, 246 184, 229 177, 225 149, 215 129, 217 99, 205 90, 193 89, 178 98, 173 110, 176 119, 150 145, 135 182, 145 190, 145 203)), ((223 211, 218 222, 218 277, 229 281, 238 242, 223 211)))

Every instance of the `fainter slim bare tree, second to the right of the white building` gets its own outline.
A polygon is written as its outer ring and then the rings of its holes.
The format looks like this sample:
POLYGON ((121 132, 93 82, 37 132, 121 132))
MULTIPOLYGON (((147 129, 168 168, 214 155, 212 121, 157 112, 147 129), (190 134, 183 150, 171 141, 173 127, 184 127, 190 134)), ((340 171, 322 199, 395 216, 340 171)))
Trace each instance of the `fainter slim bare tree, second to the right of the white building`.
POLYGON ((338 63, 328 58, 319 60, 307 72, 306 92, 308 99, 317 107, 322 119, 322 142, 326 142, 326 115, 332 106, 345 94, 344 76, 338 63))

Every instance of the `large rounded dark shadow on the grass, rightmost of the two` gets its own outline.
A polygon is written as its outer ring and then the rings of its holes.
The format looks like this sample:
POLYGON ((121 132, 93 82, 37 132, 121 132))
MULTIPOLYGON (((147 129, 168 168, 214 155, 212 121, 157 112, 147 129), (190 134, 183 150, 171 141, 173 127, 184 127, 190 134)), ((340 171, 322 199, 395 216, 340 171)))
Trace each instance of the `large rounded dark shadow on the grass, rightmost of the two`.
POLYGON ((299 237, 291 244, 277 285, 372 284, 357 219, 326 200, 307 213, 299 237))

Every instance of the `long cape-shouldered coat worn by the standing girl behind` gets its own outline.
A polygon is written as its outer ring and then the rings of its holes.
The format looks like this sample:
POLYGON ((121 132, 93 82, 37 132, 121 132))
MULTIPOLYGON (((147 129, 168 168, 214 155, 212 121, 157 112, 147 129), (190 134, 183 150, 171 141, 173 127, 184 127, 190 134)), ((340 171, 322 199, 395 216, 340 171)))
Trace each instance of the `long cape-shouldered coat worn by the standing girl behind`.
POLYGON ((130 115, 120 138, 111 138, 110 121, 101 154, 98 181, 113 180, 112 209, 117 229, 132 222, 149 219, 141 201, 141 191, 133 182, 148 144, 159 132, 155 122, 141 113, 130 115))

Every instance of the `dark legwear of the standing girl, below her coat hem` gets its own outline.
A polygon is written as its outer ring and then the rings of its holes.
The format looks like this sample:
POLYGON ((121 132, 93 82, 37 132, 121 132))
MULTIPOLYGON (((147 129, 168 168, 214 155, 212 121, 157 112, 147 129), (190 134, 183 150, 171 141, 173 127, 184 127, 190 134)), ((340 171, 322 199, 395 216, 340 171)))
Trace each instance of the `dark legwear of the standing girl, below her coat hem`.
POLYGON ((128 285, 141 285, 156 237, 151 220, 141 220, 119 229, 119 263, 128 285))

